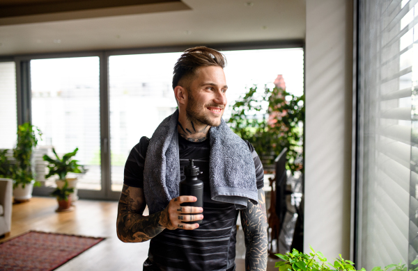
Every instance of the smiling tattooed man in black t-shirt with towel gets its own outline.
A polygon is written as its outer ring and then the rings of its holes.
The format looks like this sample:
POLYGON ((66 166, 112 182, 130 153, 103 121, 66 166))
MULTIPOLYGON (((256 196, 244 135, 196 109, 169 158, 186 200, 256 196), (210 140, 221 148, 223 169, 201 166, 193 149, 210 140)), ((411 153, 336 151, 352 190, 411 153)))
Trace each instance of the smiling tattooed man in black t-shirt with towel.
POLYGON ((187 49, 173 72, 178 111, 151 139, 141 138, 127 158, 117 233, 127 243, 150 240, 144 270, 235 270, 238 213, 246 270, 266 269, 263 166, 254 147, 222 120, 225 63, 213 49, 187 49), (189 159, 203 172, 198 176, 204 183, 203 208, 180 206, 196 201, 178 196, 189 159))

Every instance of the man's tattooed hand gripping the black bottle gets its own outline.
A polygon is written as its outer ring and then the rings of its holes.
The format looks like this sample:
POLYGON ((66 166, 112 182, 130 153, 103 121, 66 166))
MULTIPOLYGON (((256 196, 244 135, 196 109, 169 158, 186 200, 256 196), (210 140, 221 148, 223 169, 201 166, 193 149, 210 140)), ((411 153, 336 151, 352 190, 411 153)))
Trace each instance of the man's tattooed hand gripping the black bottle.
POLYGON ((196 197, 180 196, 171 199, 169 205, 161 212, 159 224, 166 229, 197 229, 199 224, 186 224, 183 222, 202 220, 203 215, 198 213, 203 212, 201 207, 180 206, 185 202, 196 202, 196 197))

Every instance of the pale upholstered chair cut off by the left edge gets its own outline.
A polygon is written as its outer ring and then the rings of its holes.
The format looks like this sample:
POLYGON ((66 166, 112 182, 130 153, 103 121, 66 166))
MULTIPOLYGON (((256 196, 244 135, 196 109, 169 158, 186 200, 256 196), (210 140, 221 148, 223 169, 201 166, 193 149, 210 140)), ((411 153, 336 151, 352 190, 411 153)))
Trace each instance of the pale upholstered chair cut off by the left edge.
POLYGON ((12 226, 12 195, 11 179, 0 178, 0 237, 7 237, 12 226))

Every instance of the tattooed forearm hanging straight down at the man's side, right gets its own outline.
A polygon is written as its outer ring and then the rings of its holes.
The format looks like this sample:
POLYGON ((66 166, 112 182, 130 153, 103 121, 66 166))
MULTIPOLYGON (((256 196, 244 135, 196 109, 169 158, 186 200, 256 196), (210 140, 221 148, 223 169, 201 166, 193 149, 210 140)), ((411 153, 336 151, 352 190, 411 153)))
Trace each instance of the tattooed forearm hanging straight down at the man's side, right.
POLYGON ((258 205, 248 201, 247 208, 240 212, 246 247, 245 270, 265 271, 267 268, 268 238, 264 190, 258 190, 258 205))

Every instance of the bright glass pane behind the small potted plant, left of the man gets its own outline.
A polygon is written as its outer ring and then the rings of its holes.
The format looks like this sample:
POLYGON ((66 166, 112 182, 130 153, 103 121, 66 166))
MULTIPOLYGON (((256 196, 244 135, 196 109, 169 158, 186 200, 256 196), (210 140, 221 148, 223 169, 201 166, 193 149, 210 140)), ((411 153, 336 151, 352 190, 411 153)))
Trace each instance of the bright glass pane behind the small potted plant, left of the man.
POLYGON ((43 133, 39 152, 52 155, 54 147, 62 156, 78 147, 75 159, 88 171, 77 188, 101 190, 99 58, 31 60, 31 84, 32 123, 43 133))

